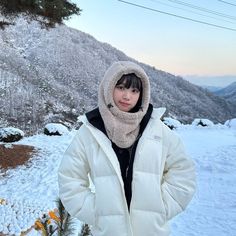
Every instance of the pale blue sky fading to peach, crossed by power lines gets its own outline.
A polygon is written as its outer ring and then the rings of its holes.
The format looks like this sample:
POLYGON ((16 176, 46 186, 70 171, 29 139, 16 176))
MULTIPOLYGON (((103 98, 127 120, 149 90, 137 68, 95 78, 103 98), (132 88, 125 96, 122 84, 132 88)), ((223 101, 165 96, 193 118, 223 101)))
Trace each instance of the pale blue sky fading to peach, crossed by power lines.
POLYGON ((73 17, 69 25, 111 44, 140 62, 175 75, 236 75, 235 0, 127 1, 233 28, 234 31, 187 21, 118 0, 73 0, 83 11, 80 16, 73 17), (187 7, 188 4, 192 7, 187 7), (232 18, 223 18, 196 8, 232 18))

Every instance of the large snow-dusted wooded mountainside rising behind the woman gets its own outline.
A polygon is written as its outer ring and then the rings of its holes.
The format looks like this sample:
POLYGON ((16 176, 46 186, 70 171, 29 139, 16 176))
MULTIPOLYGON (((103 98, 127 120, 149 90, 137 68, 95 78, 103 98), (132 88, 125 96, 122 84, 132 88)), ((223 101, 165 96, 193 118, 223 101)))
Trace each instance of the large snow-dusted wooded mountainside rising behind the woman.
MULTIPOLYGON (((34 133, 47 122, 74 122, 96 107, 98 84, 118 60, 135 61, 65 25, 47 30, 19 18, 0 31, 0 126, 34 133)), ((224 122, 236 117, 236 108, 225 99, 139 64, 150 77, 152 103, 165 106, 166 116, 182 122, 199 117, 224 122)))

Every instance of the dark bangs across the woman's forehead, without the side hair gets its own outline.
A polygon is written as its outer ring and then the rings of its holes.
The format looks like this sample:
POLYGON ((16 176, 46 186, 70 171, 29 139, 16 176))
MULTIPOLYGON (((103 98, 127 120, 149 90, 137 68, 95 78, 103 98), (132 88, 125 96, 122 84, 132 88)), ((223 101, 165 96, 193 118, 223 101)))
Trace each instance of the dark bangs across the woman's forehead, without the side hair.
POLYGON ((127 89, 131 87, 138 89, 140 92, 142 91, 141 79, 134 73, 122 75, 122 77, 117 81, 116 85, 120 84, 123 84, 127 89))

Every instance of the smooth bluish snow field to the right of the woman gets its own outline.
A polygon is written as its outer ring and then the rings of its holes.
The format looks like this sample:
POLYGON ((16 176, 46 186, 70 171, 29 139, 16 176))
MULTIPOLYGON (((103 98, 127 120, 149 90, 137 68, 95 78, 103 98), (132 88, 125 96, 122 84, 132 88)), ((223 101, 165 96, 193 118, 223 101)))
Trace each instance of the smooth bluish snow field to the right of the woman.
POLYGON ((236 131, 190 126, 178 134, 196 163, 198 187, 186 212, 173 220, 173 235, 235 235, 236 131))

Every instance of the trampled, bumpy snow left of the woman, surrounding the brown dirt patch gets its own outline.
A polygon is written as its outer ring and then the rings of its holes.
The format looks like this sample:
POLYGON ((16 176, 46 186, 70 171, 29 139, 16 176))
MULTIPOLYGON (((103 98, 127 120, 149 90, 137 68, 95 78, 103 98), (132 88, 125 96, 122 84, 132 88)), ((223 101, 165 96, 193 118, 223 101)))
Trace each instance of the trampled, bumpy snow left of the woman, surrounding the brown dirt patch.
POLYGON ((75 131, 63 136, 35 135, 25 137, 17 144, 32 145, 38 154, 27 166, 0 172, 0 232, 20 235, 29 229, 37 218, 56 207, 58 196, 57 168, 62 153, 69 145, 75 131), (3 217, 2 217, 3 216, 3 217), (8 230, 8 232, 7 232, 8 230))

